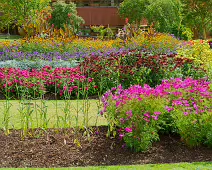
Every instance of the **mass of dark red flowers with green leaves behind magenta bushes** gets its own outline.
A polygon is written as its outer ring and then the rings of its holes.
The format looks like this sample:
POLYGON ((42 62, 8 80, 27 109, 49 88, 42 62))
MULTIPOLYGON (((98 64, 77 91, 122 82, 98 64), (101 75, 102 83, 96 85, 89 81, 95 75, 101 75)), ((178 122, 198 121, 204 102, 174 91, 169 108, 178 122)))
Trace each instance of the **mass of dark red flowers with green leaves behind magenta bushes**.
POLYGON ((177 58, 175 54, 150 55, 139 50, 122 50, 109 56, 89 56, 79 65, 93 83, 101 87, 101 94, 119 84, 128 88, 134 84, 155 87, 163 79, 205 76, 202 69, 193 66, 191 59, 177 58))

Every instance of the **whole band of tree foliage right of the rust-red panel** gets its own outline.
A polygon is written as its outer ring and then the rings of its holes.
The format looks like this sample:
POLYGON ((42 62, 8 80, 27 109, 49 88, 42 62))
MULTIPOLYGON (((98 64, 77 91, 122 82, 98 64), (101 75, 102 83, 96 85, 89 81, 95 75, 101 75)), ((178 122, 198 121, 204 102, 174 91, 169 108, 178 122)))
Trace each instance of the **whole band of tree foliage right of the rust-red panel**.
POLYGON ((119 13, 130 23, 146 18, 160 32, 198 30, 205 39, 212 30, 212 0, 124 0, 119 13))

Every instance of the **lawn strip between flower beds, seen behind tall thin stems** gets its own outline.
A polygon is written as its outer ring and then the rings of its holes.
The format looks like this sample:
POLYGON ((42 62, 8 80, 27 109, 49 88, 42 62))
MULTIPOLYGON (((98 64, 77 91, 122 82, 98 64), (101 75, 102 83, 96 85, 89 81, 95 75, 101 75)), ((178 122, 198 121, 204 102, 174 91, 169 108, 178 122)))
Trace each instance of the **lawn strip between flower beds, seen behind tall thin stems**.
MULTIPOLYGON (((39 100, 30 101, 30 104, 21 104, 18 100, 9 101, 9 128, 11 129, 20 129, 21 128, 21 114, 20 109, 22 108, 25 114, 31 113, 31 127, 37 128, 41 123, 40 116, 42 114, 42 110, 46 110, 47 119, 49 120, 48 128, 57 127, 57 118, 59 118, 59 127, 64 127, 64 122, 62 118, 65 116, 65 107, 67 107, 67 112, 69 119, 71 120, 71 126, 76 125, 76 116, 78 113, 79 124, 82 125, 83 121, 88 118, 88 125, 94 126, 96 121, 97 125, 106 125, 106 120, 98 115, 98 100, 88 100, 87 103, 83 102, 83 100, 45 100, 45 105, 41 103, 39 100), (56 103, 57 102, 57 103, 56 103), (68 105, 67 105, 68 103, 68 105), (84 106, 83 106, 84 105, 84 106), (85 107, 86 105, 86 107, 85 107), (57 106, 57 107, 56 107, 57 106), (40 109, 43 107, 43 109, 40 109), (28 112, 27 112, 28 109, 28 112), (57 111, 56 111, 57 110, 57 111)), ((0 128, 3 127, 3 119, 4 113, 6 111, 6 101, 0 100, 0 128)))

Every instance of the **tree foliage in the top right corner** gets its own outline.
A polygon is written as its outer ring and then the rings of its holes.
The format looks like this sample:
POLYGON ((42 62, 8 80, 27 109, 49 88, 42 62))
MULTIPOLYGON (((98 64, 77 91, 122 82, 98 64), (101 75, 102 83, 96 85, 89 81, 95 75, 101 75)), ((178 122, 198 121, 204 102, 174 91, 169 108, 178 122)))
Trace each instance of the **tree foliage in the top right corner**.
POLYGON ((184 24, 193 31, 199 31, 206 39, 207 31, 212 30, 212 0, 182 0, 184 5, 184 24))

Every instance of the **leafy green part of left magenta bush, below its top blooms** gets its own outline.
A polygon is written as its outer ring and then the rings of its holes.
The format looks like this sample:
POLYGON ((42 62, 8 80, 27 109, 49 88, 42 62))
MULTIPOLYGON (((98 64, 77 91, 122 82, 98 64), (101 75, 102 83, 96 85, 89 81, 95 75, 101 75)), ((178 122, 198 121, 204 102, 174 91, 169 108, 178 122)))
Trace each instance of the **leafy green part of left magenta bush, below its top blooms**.
POLYGON ((152 95, 139 96, 141 100, 128 100, 120 107, 112 99, 115 95, 118 96, 119 90, 109 99, 109 106, 104 114, 110 123, 110 130, 118 128, 120 139, 132 150, 147 151, 154 141, 159 140, 159 124, 163 124, 160 119, 162 115, 159 114, 165 111, 165 100, 152 95))

